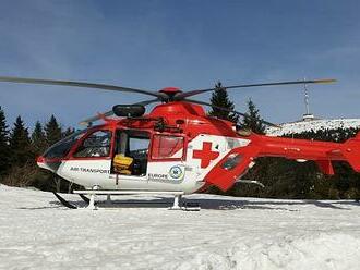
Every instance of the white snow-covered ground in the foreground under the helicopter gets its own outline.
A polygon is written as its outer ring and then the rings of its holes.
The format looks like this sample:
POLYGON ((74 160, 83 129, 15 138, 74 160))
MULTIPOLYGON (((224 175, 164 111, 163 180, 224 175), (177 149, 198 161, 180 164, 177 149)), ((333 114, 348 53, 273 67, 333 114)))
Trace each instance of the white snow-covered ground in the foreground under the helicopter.
POLYGON ((187 212, 167 210, 169 197, 120 196, 116 209, 91 211, 4 185, 0 198, 0 269, 360 268, 350 200, 191 195, 203 209, 187 212))

